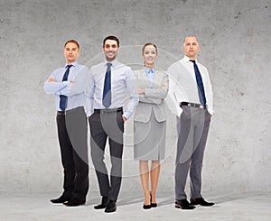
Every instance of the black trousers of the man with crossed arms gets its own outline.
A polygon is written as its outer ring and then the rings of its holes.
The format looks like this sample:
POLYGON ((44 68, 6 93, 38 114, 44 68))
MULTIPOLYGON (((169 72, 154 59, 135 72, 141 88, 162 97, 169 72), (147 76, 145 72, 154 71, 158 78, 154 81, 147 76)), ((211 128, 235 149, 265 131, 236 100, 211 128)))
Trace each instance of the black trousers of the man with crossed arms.
POLYGON ((82 106, 57 115, 61 162, 64 169, 63 195, 86 199, 89 190, 88 124, 82 106))

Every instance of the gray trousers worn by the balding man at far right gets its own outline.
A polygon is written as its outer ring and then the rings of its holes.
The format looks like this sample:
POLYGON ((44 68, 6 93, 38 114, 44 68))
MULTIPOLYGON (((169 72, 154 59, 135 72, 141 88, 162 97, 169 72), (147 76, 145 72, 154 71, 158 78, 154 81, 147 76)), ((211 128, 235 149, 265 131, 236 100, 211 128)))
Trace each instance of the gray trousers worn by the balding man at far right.
POLYGON ((177 118, 178 143, 175 162, 175 199, 187 198, 185 184, 188 171, 191 179, 191 198, 201 198, 203 154, 210 127, 211 115, 206 109, 182 106, 177 118))

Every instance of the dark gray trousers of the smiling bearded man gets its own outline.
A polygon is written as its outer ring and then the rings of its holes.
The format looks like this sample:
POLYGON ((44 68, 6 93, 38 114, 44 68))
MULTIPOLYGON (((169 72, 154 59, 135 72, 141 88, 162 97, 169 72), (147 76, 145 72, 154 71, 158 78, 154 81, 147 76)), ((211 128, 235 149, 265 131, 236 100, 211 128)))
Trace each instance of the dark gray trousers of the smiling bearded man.
POLYGON ((100 195, 117 201, 122 176, 124 122, 122 111, 94 113, 89 117, 90 150, 100 195), (110 183, 104 162, 107 137, 110 148, 110 183))

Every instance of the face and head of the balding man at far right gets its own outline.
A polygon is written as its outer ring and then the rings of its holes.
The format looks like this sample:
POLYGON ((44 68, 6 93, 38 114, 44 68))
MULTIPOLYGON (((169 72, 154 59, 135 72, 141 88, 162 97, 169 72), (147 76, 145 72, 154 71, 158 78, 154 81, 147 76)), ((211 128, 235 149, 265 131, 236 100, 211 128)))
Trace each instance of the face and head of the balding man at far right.
POLYGON ((189 36, 185 38, 182 45, 182 51, 184 51, 184 54, 188 58, 190 58, 191 60, 195 60, 200 50, 201 47, 196 37, 189 36))

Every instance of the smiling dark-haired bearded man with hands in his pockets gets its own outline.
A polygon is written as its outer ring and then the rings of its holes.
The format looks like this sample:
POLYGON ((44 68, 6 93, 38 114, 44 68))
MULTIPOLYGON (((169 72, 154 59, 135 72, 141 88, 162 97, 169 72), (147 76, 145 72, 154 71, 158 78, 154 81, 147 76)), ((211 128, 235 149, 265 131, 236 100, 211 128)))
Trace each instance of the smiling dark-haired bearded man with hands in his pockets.
POLYGON ((90 69, 87 115, 90 127, 91 158, 98 177, 102 196, 95 209, 106 213, 117 210, 116 202, 121 185, 124 123, 133 114, 139 98, 132 69, 117 61, 119 41, 107 36, 103 41, 106 60, 90 69), (129 102, 123 110, 125 95, 129 102), (104 162, 105 147, 109 140, 110 182, 104 162))

